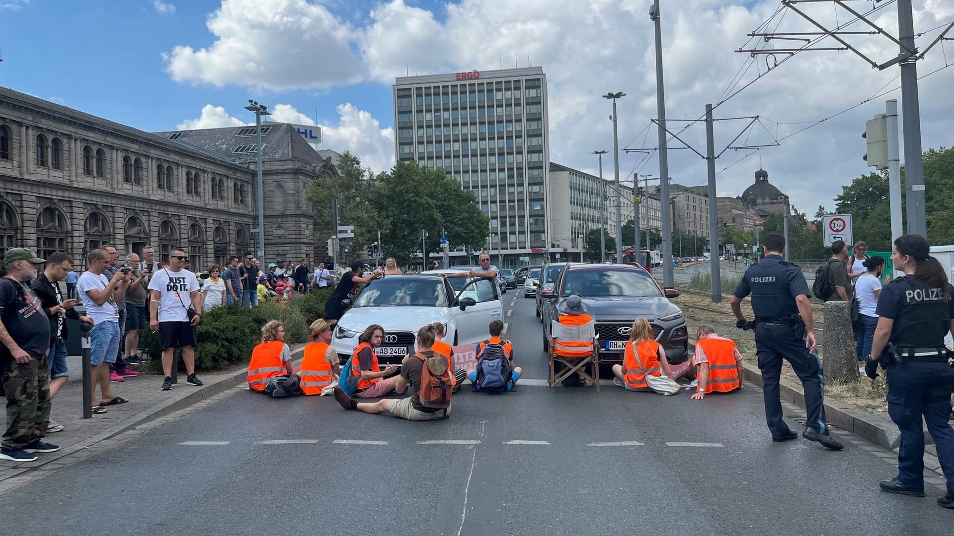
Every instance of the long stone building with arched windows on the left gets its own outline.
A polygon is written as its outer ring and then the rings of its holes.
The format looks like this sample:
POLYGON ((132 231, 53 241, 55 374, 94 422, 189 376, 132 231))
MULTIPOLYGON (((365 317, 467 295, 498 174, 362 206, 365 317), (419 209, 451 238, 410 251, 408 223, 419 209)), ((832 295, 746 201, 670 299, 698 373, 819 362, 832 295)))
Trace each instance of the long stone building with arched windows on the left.
POLYGON ((0 254, 46 258, 114 244, 181 247, 193 270, 252 247, 252 177, 223 155, 192 150, 25 93, 0 88, 0 254))

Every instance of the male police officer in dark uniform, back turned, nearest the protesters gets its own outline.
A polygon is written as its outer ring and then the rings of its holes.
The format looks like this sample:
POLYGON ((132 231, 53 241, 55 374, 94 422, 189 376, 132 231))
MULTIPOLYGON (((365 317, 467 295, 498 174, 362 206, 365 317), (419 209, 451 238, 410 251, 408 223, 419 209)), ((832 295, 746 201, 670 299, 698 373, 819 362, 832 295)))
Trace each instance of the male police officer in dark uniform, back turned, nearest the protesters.
POLYGON ((808 301, 808 283, 798 266, 782 259, 785 237, 777 233, 769 235, 762 246, 765 258, 745 271, 731 303, 732 312, 738 320, 736 325, 751 325, 746 323, 742 315, 741 301, 752 295, 752 311, 756 315, 758 368, 762 371, 764 381, 762 396, 765 401, 765 421, 772 432, 772 441, 780 443, 798 438, 798 434, 782 421, 778 378, 784 358, 792 365, 805 391, 808 423, 801 437, 832 450, 840 450, 841 443, 828 435, 828 426, 825 424, 821 400, 821 363, 815 354, 815 329, 812 306, 808 301))

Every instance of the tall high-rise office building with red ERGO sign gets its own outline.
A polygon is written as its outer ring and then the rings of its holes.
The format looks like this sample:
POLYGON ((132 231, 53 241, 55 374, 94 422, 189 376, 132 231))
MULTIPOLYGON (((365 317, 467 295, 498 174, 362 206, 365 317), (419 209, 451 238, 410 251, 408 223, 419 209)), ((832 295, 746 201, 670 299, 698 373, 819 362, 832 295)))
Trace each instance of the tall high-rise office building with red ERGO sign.
MULTIPOLYGON (((547 76, 539 67, 404 76, 394 84, 395 156, 444 170, 490 218, 495 263, 539 263, 552 251, 547 76)), ((467 262, 454 237, 451 264, 467 262)))

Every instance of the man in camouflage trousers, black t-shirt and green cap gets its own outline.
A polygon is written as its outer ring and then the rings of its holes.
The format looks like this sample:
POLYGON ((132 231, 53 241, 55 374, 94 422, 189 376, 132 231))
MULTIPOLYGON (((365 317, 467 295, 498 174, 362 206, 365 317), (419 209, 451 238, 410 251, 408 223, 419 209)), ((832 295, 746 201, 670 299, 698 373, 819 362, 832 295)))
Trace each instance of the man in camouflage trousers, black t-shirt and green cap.
POLYGON ((50 421, 50 320, 30 288, 44 259, 28 248, 10 248, 0 265, 0 372, 7 395, 7 430, 0 460, 32 462, 50 421))

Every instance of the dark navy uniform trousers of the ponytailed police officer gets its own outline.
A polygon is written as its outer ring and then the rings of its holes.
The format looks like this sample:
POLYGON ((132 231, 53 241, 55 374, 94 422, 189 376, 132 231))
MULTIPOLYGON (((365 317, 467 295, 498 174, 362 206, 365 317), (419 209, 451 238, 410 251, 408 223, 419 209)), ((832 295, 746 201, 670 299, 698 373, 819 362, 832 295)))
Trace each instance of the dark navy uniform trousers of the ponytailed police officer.
POLYGON ((888 415, 901 430, 898 481, 904 487, 924 487, 923 416, 938 449, 947 491, 954 492, 954 428, 947 422, 951 414, 954 368, 946 362, 896 363, 887 368, 887 376, 888 415))

